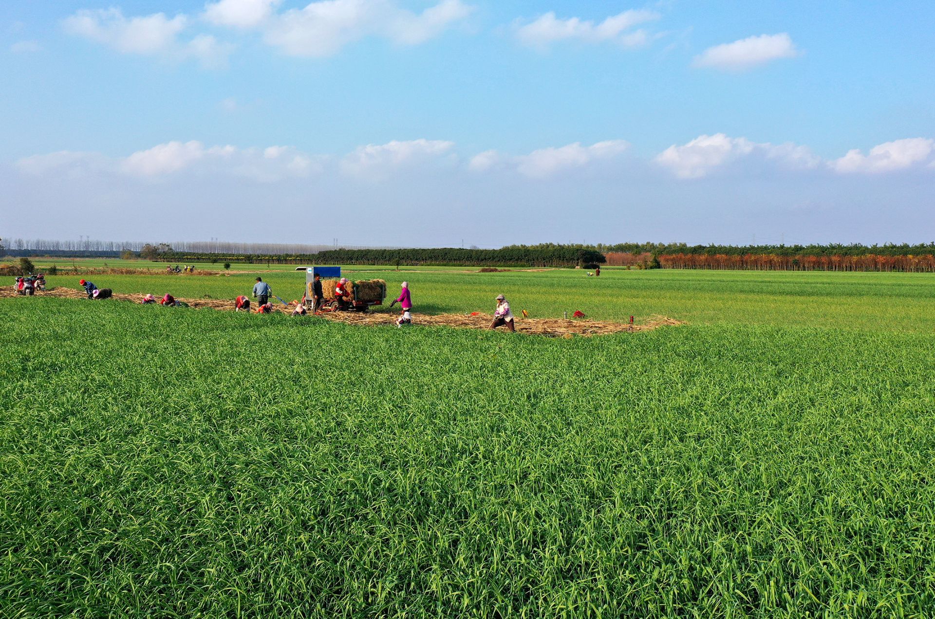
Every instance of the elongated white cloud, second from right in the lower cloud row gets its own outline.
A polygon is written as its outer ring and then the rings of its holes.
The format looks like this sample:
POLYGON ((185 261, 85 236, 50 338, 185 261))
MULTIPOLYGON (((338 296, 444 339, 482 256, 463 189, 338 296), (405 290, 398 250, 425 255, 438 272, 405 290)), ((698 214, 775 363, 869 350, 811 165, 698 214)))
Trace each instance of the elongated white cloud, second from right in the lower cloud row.
POLYGON ((673 144, 659 153, 655 162, 668 167, 681 179, 700 179, 715 168, 753 156, 799 169, 813 168, 821 163, 821 160, 804 146, 756 143, 746 137, 728 137, 725 134, 699 136, 682 146, 673 144))

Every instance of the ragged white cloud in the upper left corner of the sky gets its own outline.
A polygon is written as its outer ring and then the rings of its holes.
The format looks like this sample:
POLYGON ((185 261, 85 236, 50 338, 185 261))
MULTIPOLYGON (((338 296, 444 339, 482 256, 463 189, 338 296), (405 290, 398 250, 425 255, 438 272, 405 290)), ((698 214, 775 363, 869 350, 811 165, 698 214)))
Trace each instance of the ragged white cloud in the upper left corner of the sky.
POLYGON ((120 8, 79 10, 65 18, 65 31, 103 43, 122 53, 162 56, 173 60, 194 58, 202 65, 224 65, 232 48, 214 36, 197 35, 187 42, 179 39, 189 25, 185 15, 169 19, 165 13, 146 17, 123 16, 120 8))

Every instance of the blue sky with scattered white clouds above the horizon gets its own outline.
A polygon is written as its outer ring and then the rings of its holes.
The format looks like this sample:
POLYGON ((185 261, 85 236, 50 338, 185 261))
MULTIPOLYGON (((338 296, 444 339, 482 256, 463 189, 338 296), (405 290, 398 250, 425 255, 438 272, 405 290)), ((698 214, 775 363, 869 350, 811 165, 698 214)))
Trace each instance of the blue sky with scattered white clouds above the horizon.
POLYGON ((933 26, 928 2, 7 1, 0 236, 929 241, 933 26))

